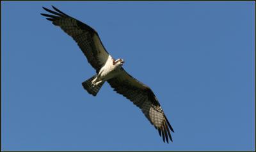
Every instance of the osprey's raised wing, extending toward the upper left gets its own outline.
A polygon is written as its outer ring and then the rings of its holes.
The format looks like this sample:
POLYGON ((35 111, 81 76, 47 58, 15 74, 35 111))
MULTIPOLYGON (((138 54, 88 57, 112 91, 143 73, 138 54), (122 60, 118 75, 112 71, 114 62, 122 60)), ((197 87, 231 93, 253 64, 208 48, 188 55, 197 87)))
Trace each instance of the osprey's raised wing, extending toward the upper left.
POLYGON ((46 19, 50 20, 52 24, 60 26, 65 33, 72 36, 86 56, 88 63, 99 72, 100 68, 108 60, 109 54, 102 45, 97 31, 83 22, 68 16, 54 6, 52 8, 55 11, 44 8, 51 15, 45 13, 41 13, 41 15, 47 17, 46 19))

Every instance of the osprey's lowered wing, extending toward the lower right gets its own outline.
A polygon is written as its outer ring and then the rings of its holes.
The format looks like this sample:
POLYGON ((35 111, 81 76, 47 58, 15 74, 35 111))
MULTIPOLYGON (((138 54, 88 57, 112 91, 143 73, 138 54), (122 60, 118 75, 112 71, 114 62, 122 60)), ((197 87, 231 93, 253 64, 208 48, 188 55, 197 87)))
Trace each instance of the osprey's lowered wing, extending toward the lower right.
POLYGON ((170 130, 174 132, 173 128, 164 115, 156 96, 148 86, 134 79, 129 73, 125 72, 124 68, 122 68, 118 77, 108 80, 108 83, 114 88, 114 91, 140 107, 150 123, 159 131, 163 141, 166 139, 168 142, 168 137, 172 141, 170 130))

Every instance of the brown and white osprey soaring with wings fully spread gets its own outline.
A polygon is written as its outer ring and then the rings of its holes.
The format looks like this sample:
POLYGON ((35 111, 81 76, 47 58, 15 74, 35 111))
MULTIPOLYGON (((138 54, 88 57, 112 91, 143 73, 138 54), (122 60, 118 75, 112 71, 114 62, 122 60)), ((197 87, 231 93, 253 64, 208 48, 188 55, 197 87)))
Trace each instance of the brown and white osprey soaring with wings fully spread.
MULTIPOLYGON (((44 7, 43 7, 44 8, 44 7)), ((104 48, 97 31, 92 27, 68 16, 54 6, 55 11, 44 8, 50 14, 41 13, 55 26, 61 27, 77 43, 83 54, 96 70, 96 74, 82 83, 88 93, 96 96, 104 82, 108 82, 114 91, 131 100, 145 114, 148 121, 158 130, 163 141, 172 141, 173 128, 166 118, 160 103, 150 87, 125 72, 123 59, 114 59, 104 48), (170 129, 169 129, 170 128, 170 129)))

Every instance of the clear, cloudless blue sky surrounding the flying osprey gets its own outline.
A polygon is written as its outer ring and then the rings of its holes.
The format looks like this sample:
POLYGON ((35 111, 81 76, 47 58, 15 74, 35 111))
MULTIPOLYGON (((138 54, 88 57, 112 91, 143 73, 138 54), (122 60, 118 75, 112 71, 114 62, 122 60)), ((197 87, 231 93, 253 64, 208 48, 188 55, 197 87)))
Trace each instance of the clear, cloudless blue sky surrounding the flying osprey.
POLYGON ((255 150, 255 2, 1 2, 1 150, 255 150), (152 88, 175 130, 163 143, 40 13, 96 29, 152 88))

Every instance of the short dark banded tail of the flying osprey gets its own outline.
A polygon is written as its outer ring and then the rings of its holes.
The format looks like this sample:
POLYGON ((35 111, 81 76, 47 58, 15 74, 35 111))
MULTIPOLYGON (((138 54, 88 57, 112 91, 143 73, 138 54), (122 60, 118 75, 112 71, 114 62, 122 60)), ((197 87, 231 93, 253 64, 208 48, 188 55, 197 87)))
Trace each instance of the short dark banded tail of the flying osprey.
POLYGON ((105 82, 105 81, 102 81, 97 85, 93 85, 92 80, 95 79, 95 77, 97 77, 97 75, 94 75, 93 77, 91 77, 90 79, 88 79, 82 83, 82 86, 84 87, 84 89, 86 89, 86 91, 88 93, 92 94, 93 96, 97 95, 100 88, 103 86, 103 84, 105 82))

